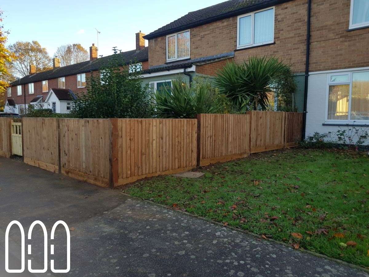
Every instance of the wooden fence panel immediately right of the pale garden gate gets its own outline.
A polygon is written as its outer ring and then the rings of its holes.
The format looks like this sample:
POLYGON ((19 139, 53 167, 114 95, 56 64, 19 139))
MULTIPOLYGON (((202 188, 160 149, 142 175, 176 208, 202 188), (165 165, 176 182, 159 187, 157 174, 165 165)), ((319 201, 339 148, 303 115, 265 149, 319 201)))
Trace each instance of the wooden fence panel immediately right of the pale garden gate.
POLYGON ((22 123, 24 162, 48 171, 59 172, 58 120, 25 117, 22 123))

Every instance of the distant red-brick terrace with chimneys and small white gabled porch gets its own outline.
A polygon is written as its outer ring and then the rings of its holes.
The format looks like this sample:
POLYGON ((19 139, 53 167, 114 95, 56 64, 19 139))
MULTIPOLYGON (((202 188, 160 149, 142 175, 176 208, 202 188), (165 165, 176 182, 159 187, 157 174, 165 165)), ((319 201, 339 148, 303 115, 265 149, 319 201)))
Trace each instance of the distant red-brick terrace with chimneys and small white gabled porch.
MULTIPOLYGON (((138 63, 137 69, 148 69, 148 47, 145 47, 144 35, 141 31, 136 34, 136 49, 117 54, 122 66, 134 61, 138 63)), ((35 66, 30 65, 30 74, 7 88, 5 112, 22 113, 32 104, 57 113, 69 113, 72 98, 86 92, 86 78, 108 65, 112 57, 98 58, 98 49, 92 44, 89 61, 61 67, 60 60, 54 58, 53 69, 39 73, 35 73, 35 66)))

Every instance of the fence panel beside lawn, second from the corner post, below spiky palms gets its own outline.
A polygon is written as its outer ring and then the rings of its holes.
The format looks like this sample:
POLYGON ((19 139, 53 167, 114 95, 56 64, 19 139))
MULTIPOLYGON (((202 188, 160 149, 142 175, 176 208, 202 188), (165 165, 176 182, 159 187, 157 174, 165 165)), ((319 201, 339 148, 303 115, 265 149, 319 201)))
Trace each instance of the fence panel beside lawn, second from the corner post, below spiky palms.
POLYGON ((199 157, 204 166, 250 155, 250 115, 199 114, 199 157))

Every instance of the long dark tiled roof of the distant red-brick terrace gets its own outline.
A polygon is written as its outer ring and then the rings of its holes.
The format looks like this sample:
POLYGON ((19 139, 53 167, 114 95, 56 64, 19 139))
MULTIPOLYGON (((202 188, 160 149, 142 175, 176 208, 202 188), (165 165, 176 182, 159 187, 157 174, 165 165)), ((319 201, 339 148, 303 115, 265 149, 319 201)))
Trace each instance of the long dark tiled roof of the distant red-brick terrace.
MULTIPOLYGON (((141 50, 131 50, 117 54, 117 57, 120 59, 119 65, 126 65, 132 61, 144 62, 149 59, 148 55, 148 47, 145 47, 141 50)), ((11 83, 11 86, 23 85, 27 83, 45 81, 48 79, 54 79, 59 77, 65 77, 68 75, 75 75, 84 72, 90 72, 94 70, 98 70, 104 66, 109 64, 109 61, 114 57, 114 55, 109 55, 106 57, 101 57, 95 59, 93 61, 85 61, 79 62, 78 64, 72 64, 67 66, 62 66, 56 69, 51 69, 44 72, 39 72, 33 75, 27 75, 17 81, 11 83)))

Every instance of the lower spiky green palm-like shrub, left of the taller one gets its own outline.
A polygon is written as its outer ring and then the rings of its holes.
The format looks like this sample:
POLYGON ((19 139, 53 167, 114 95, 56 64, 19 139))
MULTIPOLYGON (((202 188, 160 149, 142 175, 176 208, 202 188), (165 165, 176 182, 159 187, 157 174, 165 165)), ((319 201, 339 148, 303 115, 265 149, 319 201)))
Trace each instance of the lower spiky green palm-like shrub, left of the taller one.
POLYGON ((154 109, 162 118, 194 118, 198 113, 221 112, 208 81, 189 86, 181 78, 172 80, 170 91, 163 86, 154 92, 154 109))

